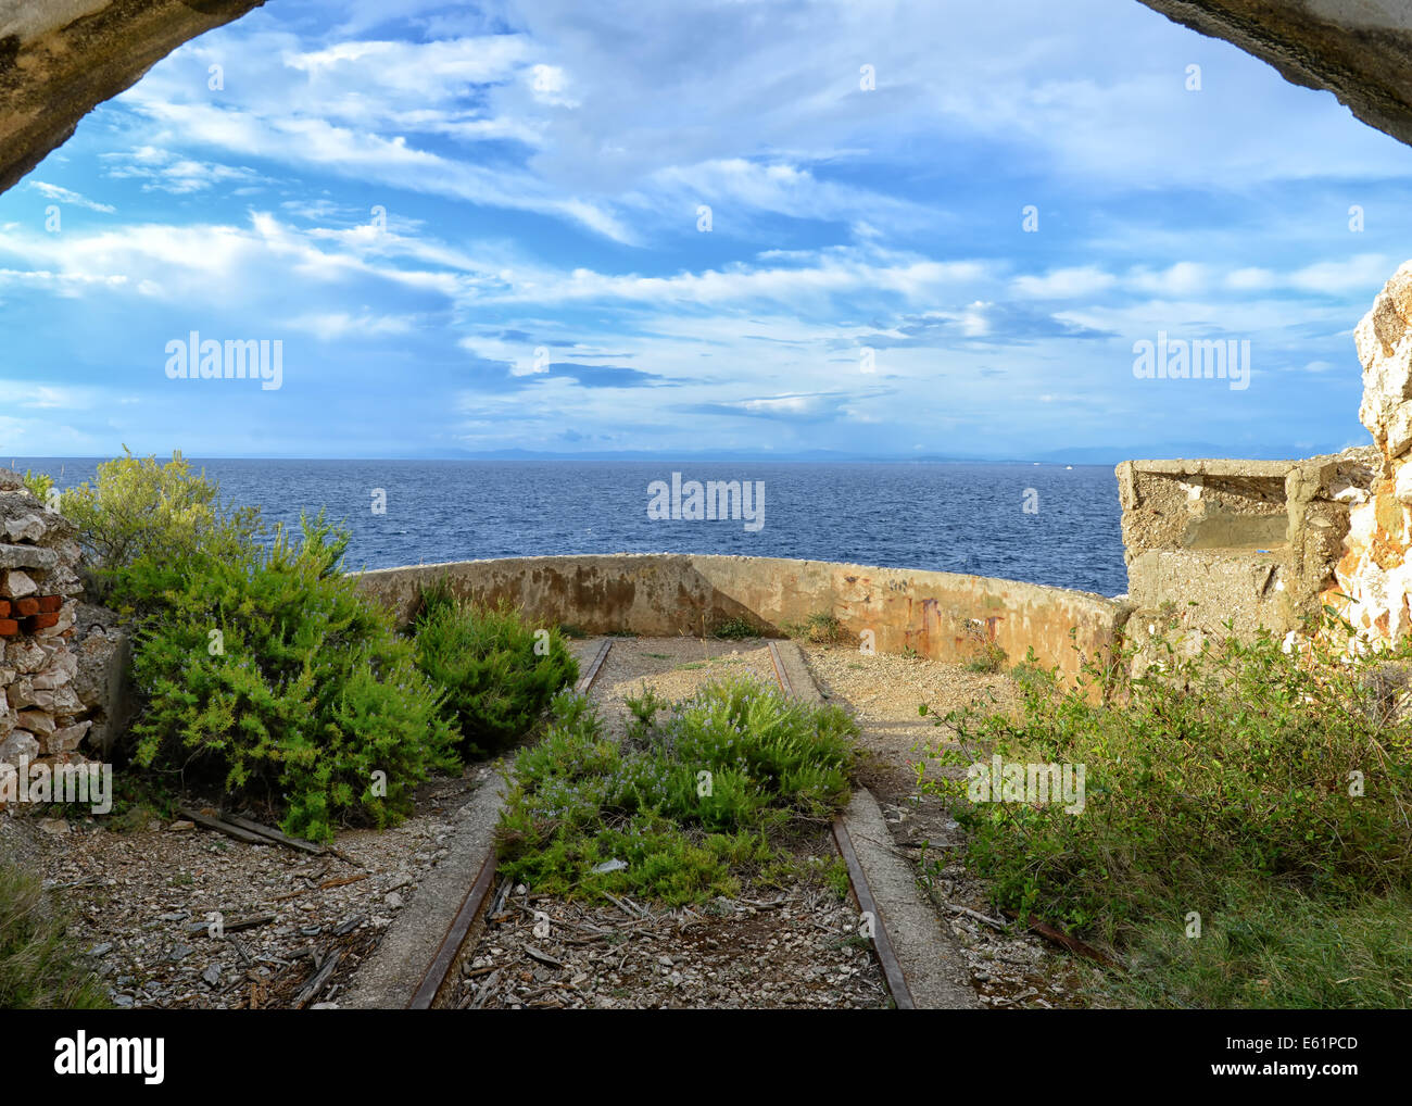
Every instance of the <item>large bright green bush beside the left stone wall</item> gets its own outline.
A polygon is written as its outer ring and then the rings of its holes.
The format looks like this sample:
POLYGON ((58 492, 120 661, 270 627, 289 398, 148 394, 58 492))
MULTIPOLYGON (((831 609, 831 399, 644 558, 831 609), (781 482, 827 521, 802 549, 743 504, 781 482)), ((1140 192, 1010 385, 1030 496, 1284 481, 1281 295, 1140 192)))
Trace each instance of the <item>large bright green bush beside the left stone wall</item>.
POLYGON ((455 735, 412 644, 342 575, 347 534, 301 525, 298 548, 280 530, 267 552, 143 558, 117 582, 144 613, 137 763, 284 808, 287 832, 322 840, 407 814, 455 766, 455 735))

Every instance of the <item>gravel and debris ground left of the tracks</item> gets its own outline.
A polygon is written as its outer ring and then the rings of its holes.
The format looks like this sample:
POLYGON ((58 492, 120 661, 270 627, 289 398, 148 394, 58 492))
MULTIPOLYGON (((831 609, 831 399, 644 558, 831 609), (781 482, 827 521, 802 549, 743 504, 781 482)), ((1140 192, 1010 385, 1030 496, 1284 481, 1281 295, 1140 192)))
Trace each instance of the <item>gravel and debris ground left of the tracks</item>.
POLYGON ((481 766, 435 780, 414 818, 339 833, 336 853, 321 856, 246 845, 185 819, 119 832, 56 818, 0 818, 0 856, 42 873, 120 1007, 336 1003, 446 856, 456 812, 489 777, 481 766), (301 994, 335 955, 318 990, 301 994))

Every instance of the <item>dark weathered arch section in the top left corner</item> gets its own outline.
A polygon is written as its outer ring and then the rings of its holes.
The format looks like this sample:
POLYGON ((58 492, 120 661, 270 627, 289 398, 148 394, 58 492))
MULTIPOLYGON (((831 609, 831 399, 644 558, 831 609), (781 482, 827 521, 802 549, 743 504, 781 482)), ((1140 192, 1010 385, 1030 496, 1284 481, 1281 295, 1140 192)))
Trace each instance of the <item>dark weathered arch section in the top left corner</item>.
POLYGON ((0 0, 0 192, 189 38, 264 0, 0 0))

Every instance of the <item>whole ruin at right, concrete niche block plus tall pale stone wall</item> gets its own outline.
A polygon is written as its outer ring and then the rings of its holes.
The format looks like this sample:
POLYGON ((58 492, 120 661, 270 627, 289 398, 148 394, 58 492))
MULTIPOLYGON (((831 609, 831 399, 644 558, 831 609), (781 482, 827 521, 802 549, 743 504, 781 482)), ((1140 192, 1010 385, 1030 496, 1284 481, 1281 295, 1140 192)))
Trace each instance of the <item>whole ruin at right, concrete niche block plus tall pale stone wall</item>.
POLYGON ((1332 607, 1364 640, 1412 634, 1412 261, 1354 342, 1371 446, 1298 462, 1118 466, 1134 623, 1165 605, 1202 631, 1233 617, 1237 633, 1284 633, 1332 607))

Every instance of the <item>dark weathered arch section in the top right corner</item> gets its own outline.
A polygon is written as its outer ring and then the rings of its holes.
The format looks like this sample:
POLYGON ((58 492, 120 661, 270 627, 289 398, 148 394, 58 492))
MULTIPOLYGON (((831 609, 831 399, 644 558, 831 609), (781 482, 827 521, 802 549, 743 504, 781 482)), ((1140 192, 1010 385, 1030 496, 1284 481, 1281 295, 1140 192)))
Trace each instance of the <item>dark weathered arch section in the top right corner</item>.
POLYGON ((1329 89, 1364 123, 1412 143, 1412 6, 1406 0, 1141 0, 1234 42, 1295 85, 1329 89))

